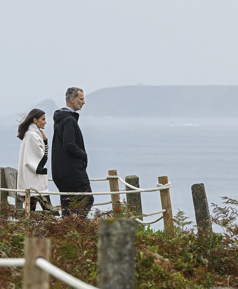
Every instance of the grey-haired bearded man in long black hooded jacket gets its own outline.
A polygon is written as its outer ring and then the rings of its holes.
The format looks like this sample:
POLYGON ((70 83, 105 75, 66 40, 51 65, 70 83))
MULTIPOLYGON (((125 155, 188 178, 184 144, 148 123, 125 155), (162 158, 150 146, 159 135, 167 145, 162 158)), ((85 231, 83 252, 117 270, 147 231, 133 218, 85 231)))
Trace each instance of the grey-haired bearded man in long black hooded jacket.
MULTIPOLYGON (((68 88, 65 99, 66 106, 55 111, 53 117, 52 178, 60 192, 92 192, 86 172, 87 153, 78 125, 79 114, 76 113, 85 104, 84 92, 78 87, 68 88)), ((92 195, 61 195, 62 216, 71 211, 86 217, 93 201, 92 195)))

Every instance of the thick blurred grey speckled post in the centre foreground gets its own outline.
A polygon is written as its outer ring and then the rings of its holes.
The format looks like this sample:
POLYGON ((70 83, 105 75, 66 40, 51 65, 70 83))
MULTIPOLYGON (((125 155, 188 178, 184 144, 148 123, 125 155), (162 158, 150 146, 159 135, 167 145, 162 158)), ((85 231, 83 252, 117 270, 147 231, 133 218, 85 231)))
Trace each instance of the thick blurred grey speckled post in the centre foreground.
POLYGON ((135 221, 102 219, 99 226, 97 287, 134 288, 135 221))

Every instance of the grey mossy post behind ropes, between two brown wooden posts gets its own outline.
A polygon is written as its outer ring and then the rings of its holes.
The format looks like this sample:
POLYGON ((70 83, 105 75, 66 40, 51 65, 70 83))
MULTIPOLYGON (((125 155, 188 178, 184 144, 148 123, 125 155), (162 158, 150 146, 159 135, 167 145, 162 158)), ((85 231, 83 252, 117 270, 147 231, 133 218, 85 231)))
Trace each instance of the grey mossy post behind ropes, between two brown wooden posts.
MULTIPOLYGON (((127 175, 125 181, 133 187, 140 188, 139 177, 137 177, 137 175, 127 175)), ((131 190, 133 189, 126 186, 126 191, 131 190)), ((126 201, 129 207, 133 207, 133 210, 137 214, 143 214, 140 193, 126 194, 126 201)), ((140 217, 139 219, 143 221, 143 217, 140 217)))

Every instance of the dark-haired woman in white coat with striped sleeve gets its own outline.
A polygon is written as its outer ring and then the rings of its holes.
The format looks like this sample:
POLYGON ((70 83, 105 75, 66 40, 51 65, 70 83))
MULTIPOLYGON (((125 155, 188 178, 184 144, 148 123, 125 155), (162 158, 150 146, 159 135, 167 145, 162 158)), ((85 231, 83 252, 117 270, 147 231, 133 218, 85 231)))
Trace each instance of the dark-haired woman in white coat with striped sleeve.
MULTIPOLYGON (((18 126, 18 135, 21 139, 20 158, 18 166, 17 189, 37 189, 48 191, 48 175, 46 162, 48 159, 48 140, 42 129, 46 125, 45 112, 34 108, 18 126)), ((24 196, 25 193, 20 193, 24 196)), ((39 201, 43 210, 50 210, 50 196, 31 193, 30 209, 35 211, 39 201)))

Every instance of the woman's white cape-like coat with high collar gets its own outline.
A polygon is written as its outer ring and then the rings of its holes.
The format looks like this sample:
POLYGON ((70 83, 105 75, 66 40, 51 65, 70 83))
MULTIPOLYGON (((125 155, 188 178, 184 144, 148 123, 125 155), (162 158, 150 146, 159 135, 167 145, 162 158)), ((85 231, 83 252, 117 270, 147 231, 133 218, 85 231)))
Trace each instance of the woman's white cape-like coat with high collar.
MULTIPOLYGON (((17 189, 48 191, 47 159, 43 136, 39 128, 32 123, 21 141, 17 189)), ((25 193, 20 195, 24 196, 25 193)), ((31 192, 31 196, 34 195, 38 194, 31 192)))

